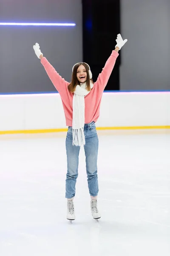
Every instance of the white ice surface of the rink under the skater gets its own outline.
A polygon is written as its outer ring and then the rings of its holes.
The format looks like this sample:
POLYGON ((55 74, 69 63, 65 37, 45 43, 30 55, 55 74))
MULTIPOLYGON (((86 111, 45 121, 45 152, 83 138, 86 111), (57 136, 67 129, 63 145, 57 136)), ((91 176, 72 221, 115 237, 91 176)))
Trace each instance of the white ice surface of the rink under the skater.
POLYGON ((0 256, 170 256, 170 131, 98 131, 99 209, 81 148, 66 219, 66 133, 0 135, 0 256))

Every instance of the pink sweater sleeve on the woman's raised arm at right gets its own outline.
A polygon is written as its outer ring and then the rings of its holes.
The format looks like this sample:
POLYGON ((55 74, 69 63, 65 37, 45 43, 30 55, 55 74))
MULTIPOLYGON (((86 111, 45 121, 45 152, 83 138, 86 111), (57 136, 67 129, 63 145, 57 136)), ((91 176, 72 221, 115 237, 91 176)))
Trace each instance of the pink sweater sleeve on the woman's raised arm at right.
POLYGON ((116 63, 116 58, 119 56, 119 53, 116 51, 112 51, 111 56, 108 58, 108 60, 105 63, 105 67, 102 69, 102 72, 99 74, 97 81, 94 83, 96 86, 98 86, 99 90, 103 92, 105 89, 109 77, 111 76, 113 67, 116 63))

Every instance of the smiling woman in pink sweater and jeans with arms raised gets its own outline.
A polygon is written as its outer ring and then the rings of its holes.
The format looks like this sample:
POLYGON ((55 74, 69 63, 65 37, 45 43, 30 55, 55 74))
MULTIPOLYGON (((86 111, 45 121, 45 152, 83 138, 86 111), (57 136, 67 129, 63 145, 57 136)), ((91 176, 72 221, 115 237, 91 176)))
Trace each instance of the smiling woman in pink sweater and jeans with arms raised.
POLYGON ((91 213, 94 219, 101 218, 97 208, 98 176, 97 155, 98 136, 96 121, 99 118, 99 109, 103 90, 108 82, 119 49, 127 42, 117 35, 116 47, 99 74, 97 81, 92 80, 92 73, 88 64, 79 62, 72 68, 71 83, 65 81, 52 65, 43 57, 39 44, 33 46, 34 51, 44 66, 49 78, 56 87, 62 99, 68 132, 66 137, 67 175, 65 184, 65 198, 67 198, 67 219, 75 220, 74 196, 78 177, 78 163, 80 146, 84 145, 86 157, 86 172, 88 189, 91 195, 91 213))

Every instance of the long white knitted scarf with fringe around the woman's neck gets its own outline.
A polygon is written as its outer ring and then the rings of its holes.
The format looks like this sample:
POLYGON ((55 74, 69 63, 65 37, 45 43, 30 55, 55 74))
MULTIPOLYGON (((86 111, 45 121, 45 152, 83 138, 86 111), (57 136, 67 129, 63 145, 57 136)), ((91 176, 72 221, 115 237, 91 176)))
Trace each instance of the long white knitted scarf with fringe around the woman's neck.
MULTIPOLYGON (((91 82, 91 89, 93 88, 91 82)), ((74 91, 73 96, 73 145, 81 146, 85 145, 85 134, 84 134, 84 125, 85 125, 85 96, 90 93, 86 90, 86 82, 77 85, 76 90, 74 91)))

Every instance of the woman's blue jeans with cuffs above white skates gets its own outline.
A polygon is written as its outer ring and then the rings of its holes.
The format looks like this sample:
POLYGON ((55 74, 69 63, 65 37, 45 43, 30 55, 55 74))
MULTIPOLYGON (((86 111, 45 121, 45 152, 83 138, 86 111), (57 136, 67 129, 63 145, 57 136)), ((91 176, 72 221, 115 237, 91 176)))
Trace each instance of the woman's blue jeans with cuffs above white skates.
MULTIPOLYGON (((97 177, 97 155, 99 140, 96 132, 95 122, 90 122, 84 126, 85 134, 85 161, 86 172, 88 177, 88 189, 92 196, 96 196, 99 192, 97 177)), ((76 193, 76 180, 78 177, 79 151, 80 146, 73 145, 72 127, 68 126, 66 137, 66 153, 67 153, 67 175, 65 181, 65 198, 72 198, 76 193)))

